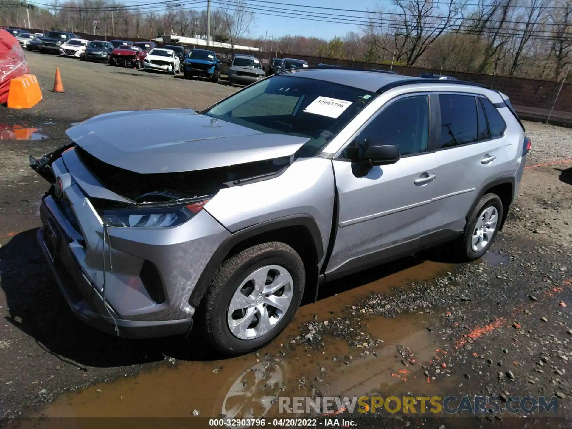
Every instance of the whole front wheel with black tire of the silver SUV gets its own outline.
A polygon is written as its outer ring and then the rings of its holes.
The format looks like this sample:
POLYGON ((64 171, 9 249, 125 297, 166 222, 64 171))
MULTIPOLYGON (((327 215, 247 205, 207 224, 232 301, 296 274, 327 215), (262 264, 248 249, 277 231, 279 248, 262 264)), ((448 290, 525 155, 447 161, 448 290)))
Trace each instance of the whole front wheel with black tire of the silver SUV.
POLYGON ((226 355, 239 355, 263 347, 279 335, 294 317, 304 294, 304 285, 304 264, 289 245, 272 241, 249 247, 225 260, 211 281, 199 311, 200 333, 207 343, 226 355), (263 293, 264 288, 270 291, 268 288, 272 287, 272 282, 268 284, 266 280, 267 285, 259 284, 263 289, 257 290, 254 281, 247 281, 255 272, 262 275, 266 272, 267 279, 271 278, 268 277, 270 275, 274 281, 280 273, 289 281, 282 288, 267 295, 263 293), (257 298, 251 301, 239 294, 247 298, 257 298), (238 301, 235 299, 237 296, 240 296, 238 301), (273 299, 267 300, 269 296, 273 299), (278 297, 283 297, 288 303, 283 312, 276 311, 277 307, 267 305, 278 297), (231 311, 231 304, 238 307, 250 305, 251 308, 231 311), (252 311, 252 315, 249 315, 248 311, 252 311), (269 316, 269 312, 272 315, 269 316), (268 324, 261 324, 263 317, 268 320, 268 324), (236 328, 231 328, 231 320, 244 320, 251 325, 237 323, 236 328))

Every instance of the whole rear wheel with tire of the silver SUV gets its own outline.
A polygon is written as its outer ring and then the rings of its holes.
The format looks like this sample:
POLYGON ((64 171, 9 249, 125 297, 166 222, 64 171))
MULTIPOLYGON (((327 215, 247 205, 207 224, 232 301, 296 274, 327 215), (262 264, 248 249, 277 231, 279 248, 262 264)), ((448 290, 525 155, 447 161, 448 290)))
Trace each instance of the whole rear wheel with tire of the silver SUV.
POLYGON ((488 248, 491 247, 501 227, 503 213, 503 204, 497 194, 489 193, 480 198, 475 209, 472 210, 468 222, 465 225, 463 235, 459 238, 456 246, 459 252, 458 255, 462 261, 474 261, 488 251, 488 248), (491 214, 495 216, 494 223, 492 218, 486 219, 487 216, 491 214), (482 228, 486 227, 487 224, 492 225, 494 230, 491 231, 490 227, 482 228), (482 233, 479 233, 479 229, 482 233), (478 237, 479 235, 480 237, 478 237))

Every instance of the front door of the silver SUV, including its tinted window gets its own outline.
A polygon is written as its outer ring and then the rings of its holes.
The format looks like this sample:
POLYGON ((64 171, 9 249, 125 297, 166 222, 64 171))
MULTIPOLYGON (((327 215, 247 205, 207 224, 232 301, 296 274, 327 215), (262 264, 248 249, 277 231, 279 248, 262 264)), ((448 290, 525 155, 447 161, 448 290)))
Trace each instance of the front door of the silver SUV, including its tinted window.
POLYGON ((327 278, 374 265, 392 253, 414 251, 419 236, 439 222, 431 205, 439 178, 436 154, 428 152, 430 122, 426 94, 398 97, 332 161, 339 219, 327 278), (371 137, 399 144, 402 157, 362 176, 356 161, 363 141, 371 137))

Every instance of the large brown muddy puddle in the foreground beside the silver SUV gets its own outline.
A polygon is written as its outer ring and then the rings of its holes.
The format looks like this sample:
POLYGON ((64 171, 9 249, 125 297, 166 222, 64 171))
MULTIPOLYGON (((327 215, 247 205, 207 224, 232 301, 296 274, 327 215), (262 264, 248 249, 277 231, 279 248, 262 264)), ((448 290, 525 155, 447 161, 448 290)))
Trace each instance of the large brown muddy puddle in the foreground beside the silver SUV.
POLYGON ((423 262, 374 281, 368 281, 368 272, 361 285, 354 276, 343 280, 348 283, 344 292, 335 293, 339 285, 334 284, 329 296, 301 307, 293 323, 257 353, 211 362, 169 359, 134 378, 63 394, 37 416, 181 418, 197 410, 209 418, 271 417, 279 415, 278 396, 375 395, 402 386, 421 391, 427 384, 422 365, 440 350, 440 340, 427 329, 431 315, 348 318, 356 338, 369 338, 367 347, 350 347, 347 338, 335 336, 323 337, 315 347, 305 342, 299 327, 308 320, 346 320, 348 307, 360 296, 391 293, 451 269, 423 262))

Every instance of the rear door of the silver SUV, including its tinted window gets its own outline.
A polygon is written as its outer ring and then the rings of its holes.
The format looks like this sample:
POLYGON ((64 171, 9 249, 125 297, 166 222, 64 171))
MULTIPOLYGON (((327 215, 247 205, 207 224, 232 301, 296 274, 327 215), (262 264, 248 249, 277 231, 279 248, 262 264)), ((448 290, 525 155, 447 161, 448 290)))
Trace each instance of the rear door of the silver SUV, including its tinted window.
POLYGON ((468 93, 440 93, 440 138, 436 144, 443 229, 462 231, 479 191, 502 176, 507 165, 506 124, 487 98, 468 93), (487 121, 484 106, 498 114, 487 121), (500 118, 500 121, 499 121, 500 118))

